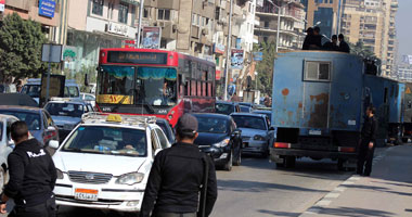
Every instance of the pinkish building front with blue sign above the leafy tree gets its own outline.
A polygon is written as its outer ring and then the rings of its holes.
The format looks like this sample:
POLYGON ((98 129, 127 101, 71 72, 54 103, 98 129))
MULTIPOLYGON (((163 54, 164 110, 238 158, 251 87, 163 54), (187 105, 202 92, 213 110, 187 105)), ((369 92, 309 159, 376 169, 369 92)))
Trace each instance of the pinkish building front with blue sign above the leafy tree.
POLYGON ((0 21, 3 16, 17 13, 24 20, 33 20, 39 22, 42 31, 50 41, 57 41, 59 31, 56 27, 60 25, 60 0, 42 1, 42 5, 38 0, 5 0, 4 11, 0 12, 0 21))

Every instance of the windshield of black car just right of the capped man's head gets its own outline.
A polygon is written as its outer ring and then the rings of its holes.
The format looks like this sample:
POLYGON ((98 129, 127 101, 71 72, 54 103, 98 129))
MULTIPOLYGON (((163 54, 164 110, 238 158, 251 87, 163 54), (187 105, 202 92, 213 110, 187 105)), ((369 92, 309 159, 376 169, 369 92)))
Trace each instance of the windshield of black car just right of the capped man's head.
POLYGON ((196 116, 198 123, 198 132, 227 133, 228 120, 219 117, 201 117, 196 116))

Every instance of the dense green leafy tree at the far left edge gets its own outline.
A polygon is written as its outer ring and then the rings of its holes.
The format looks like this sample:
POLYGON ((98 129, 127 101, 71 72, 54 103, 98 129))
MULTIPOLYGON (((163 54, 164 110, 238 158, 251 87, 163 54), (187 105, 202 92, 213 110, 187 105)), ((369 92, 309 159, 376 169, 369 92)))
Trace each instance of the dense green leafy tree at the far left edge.
POLYGON ((41 47, 47 42, 40 23, 25 21, 13 13, 0 27, 0 72, 5 76, 38 77, 47 69, 41 47))

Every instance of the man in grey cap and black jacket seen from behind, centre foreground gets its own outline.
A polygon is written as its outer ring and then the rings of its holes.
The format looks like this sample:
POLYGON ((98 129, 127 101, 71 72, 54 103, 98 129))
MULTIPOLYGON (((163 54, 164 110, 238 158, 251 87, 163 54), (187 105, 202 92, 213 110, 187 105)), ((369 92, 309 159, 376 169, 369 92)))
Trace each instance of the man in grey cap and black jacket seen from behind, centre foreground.
POLYGON ((217 199, 216 171, 211 158, 193 144, 197 135, 197 119, 193 115, 179 118, 178 142, 155 156, 140 217, 210 215, 217 199))

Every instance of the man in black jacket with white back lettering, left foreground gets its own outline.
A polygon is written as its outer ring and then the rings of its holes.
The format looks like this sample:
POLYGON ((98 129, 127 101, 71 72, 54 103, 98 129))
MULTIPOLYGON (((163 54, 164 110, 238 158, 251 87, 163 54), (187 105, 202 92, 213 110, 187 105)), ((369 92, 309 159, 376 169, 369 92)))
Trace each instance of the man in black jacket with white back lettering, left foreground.
POLYGON ((1 194, 0 213, 14 200, 10 217, 51 217, 56 214, 53 189, 57 178, 49 152, 36 139, 29 139, 24 122, 10 127, 15 148, 8 157, 10 180, 1 194))

